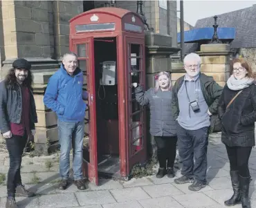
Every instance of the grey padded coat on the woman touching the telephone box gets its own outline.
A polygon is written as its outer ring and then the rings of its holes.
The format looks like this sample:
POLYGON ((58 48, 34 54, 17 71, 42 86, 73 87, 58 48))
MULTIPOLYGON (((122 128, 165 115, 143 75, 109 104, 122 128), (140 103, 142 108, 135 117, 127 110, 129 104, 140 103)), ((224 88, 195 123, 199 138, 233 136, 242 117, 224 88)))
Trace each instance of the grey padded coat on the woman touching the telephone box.
POLYGON ((172 116, 172 91, 135 88, 137 102, 150 108, 150 133, 154 136, 176 136, 176 122, 172 116))

